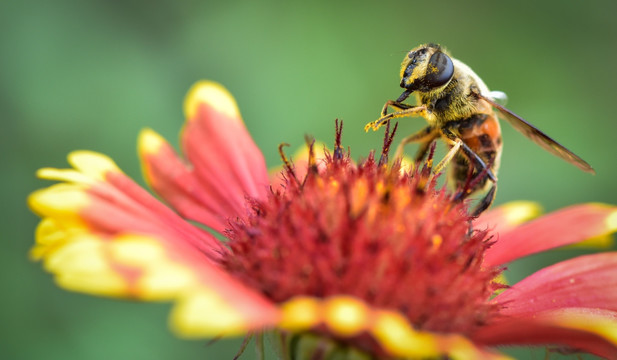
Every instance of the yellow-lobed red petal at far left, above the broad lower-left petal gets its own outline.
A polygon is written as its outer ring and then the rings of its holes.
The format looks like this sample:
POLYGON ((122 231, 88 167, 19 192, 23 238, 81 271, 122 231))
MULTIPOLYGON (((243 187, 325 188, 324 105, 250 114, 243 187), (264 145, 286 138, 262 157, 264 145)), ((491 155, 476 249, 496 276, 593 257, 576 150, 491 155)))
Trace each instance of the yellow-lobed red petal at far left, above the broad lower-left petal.
POLYGON ((90 151, 69 155, 72 169, 41 169, 38 175, 64 183, 29 197, 41 217, 72 219, 104 235, 163 235, 190 244, 205 259, 228 251, 208 232, 191 225, 126 176, 107 156, 90 151))

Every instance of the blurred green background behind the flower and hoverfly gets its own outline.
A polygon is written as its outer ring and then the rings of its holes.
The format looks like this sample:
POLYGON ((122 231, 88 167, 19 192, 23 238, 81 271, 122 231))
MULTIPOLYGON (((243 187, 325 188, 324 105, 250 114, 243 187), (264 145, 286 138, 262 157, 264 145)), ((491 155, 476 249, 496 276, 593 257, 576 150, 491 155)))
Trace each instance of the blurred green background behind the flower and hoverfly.
MULTIPOLYGON (((92 149, 140 178, 135 152, 146 126, 177 144, 182 99, 213 79, 236 96, 268 165, 277 145, 305 134, 344 143, 359 158, 379 147, 365 134, 395 99, 399 64, 438 42, 470 65, 508 107, 589 161, 590 176, 507 124, 497 203, 547 210, 617 204, 617 2, 565 1, 2 1, 0 2, 1 359, 230 359, 239 340, 175 339, 168 305, 99 299, 56 288, 27 260, 37 218, 25 206, 43 166, 92 149)), ((400 133, 424 125, 403 119, 400 133)), ((512 265, 514 280, 559 251, 512 265)), ((544 350, 519 349, 542 359, 544 350)), ((555 356, 557 357, 557 356, 555 356)), ((248 350, 243 359, 252 359, 248 350)))

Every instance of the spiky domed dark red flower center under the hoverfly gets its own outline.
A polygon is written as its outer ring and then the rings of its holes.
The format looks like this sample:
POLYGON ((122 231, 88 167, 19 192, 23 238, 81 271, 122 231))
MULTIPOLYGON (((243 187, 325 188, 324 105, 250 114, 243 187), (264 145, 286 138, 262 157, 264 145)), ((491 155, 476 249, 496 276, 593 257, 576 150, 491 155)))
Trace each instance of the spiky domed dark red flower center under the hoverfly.
POLYGON ((354 165, 337 149, 303 179, 289 167, 283 190, 251 201, 228 230, 224 266, 277 303, 345 294, 418 329, 483 324, 500 270, 482 266, 487 234, 471 229, 465 205, 436 189, 427 166, 404 173, 373 154, 354 165))

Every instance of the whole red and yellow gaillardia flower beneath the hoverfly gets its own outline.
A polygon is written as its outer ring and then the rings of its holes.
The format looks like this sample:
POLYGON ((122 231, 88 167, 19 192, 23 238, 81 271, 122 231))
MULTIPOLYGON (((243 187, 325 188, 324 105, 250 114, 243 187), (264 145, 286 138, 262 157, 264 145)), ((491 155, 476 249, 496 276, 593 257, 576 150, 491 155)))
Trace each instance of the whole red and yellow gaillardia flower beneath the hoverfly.
POLYGON ((332 152, 309 144, 305 164, 283 156, 271 178, 220 85, 196 84, 184 111, 183 157, 139 136, 145 178, 175 211, 102 154, 39 170, 61 183, 29 198, 42 218, 31 256, 59 286, 173 301, 185 337, 272 331, 284 359, 502 359, 508 345, 617 359, 617 253, 497 281, 509 261, 614 232, 617 208, 526 222, 536 207, 514 203, 472 219, 430 161, 387 165, 388 135, 381 159, 352 162, 342 126, 332 152))

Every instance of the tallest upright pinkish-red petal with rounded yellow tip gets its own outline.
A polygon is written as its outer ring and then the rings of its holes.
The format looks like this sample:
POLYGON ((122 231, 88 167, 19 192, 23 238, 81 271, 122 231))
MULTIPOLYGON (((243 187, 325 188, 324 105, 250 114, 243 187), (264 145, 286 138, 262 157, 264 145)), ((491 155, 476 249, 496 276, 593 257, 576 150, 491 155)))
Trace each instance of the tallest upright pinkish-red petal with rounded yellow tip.
POLYGON ((246 130, 235 101, 222 86, 198 83, 189 91, 187 122, 182 131, 182 147, 193 164, 200 183, 218 191, 235 214, 244 209, 245 196, 260 197, 269 185, 266 163, 246 130), (221 108, 220 99, 230 104, 221 108), (217 103, 218 101, 219 103, 217 103))

